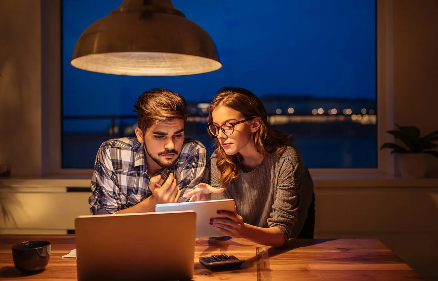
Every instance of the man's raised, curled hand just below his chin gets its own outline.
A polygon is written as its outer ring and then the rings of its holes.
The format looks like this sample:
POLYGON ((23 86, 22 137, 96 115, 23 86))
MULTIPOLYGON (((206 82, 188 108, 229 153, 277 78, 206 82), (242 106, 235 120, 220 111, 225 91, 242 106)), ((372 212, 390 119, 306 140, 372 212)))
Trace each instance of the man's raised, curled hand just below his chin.
POLYGON ((180 199, 181 191, 177 187, 177 180, 173 178, 173 173, 169 174, 167 180, 159 186, 157 184, 161 175, 151 177, 149 180, 149 189, 152 195, 159 203, 175 203, 180 199))

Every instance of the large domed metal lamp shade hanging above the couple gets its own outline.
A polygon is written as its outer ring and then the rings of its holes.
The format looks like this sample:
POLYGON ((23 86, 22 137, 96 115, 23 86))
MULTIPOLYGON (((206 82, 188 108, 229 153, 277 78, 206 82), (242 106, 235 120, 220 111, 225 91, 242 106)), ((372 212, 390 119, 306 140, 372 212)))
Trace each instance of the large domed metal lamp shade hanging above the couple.
POLYGON ((190 75, 222 67, 212 38, 170 0, 124 0, 82 32, 71 65, 138 76, 190 75))

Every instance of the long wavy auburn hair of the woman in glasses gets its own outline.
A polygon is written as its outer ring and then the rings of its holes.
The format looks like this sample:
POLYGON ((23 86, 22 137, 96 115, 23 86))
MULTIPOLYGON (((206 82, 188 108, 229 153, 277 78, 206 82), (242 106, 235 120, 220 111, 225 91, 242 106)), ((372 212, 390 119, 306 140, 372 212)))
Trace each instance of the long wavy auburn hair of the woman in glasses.
MULTIPOLYGON (((220 88, 210 104, 208 124, 213 122, 212 112, 220 106, 226 106, 239 111, 244 115, 244 118, 258 117, 261 119, 260 128, 254 133, 254 144, 257 152, 263 156, 274 156, 283 153, 286 146, 292 140, 285 133, 272 129, 265 107, 260 99, 249 90, 235 87, 220 88)), ((215 153, 218 155, 216 166, 220 175, 219 183, 221 186, 226 187, 226 185, 240 176, 243 156, 240 153, 227 155, 220 145, 219 139, 209 131, 208 134, 215 138, 216 145, 218 146, 215 149, 215 153)))

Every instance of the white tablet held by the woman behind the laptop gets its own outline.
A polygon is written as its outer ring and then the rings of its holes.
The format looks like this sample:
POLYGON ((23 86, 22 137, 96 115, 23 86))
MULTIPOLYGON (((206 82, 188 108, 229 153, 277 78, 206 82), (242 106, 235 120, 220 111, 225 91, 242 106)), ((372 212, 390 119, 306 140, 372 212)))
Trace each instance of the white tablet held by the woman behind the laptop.
POLYGON ((210 225, 211 218, 220 218, 217 211, 234 212, 234 199, 167 203, 155 205, 155 212, 194 211, 196 213, 196 238, 226 236, 210 225))

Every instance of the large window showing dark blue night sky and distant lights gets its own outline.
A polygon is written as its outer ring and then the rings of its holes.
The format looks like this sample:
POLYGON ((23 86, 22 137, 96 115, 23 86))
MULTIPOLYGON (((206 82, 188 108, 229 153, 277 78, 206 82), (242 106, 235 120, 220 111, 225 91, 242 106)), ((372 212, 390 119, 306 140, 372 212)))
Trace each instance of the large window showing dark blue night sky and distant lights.
POLYGON ((186 134, 212 152, 206 112, 223 86, 258 95, 272 125, 294 135, 307 167, 377 167, 374 1, 172 2, 213 38, 221 69, 174 77, 76 69, 70 59, 79 35, 121 0, 63 0, 63 168, 92 168, 102 142, 132 136, 132 104, 155 87, 186 98, 186 134))

